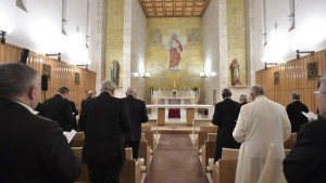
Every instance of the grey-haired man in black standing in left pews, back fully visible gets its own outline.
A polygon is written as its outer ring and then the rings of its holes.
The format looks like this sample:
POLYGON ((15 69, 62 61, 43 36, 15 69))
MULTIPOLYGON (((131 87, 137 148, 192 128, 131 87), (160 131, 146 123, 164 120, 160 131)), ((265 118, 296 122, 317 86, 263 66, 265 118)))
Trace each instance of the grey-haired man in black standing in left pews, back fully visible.
POLYGON ((93 183, 117 183, 125 160, 123 135, 130 128, 128 108, 123 100, 114 97, 114 82, 104 81, 101 94, 80 113, 85 133, 83 162, 93 183))

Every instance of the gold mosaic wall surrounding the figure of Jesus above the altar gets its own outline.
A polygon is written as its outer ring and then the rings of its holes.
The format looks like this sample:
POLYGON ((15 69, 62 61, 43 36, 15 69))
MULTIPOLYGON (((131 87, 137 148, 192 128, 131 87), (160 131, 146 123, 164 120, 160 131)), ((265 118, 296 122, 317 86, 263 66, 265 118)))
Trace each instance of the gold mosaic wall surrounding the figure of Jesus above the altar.
POLYGON ((151 74, 147 88, 177 90, 202 88, 203 47, 200 17, 148 18, 146 71, 151 74), (183 45, 180 69, 170 70, 168 41, 177 35, 183 45))

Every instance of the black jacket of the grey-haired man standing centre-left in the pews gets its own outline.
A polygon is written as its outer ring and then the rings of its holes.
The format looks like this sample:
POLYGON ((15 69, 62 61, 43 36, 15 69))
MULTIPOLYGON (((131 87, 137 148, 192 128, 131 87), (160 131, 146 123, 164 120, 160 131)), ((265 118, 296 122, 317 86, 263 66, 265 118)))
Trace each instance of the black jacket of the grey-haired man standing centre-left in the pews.
POLYGON ((123 134, 130 125, 123 100, 102 92, 90 100, 79 121, 85 125, 83 162, 120 164, 125 160, 123 134))

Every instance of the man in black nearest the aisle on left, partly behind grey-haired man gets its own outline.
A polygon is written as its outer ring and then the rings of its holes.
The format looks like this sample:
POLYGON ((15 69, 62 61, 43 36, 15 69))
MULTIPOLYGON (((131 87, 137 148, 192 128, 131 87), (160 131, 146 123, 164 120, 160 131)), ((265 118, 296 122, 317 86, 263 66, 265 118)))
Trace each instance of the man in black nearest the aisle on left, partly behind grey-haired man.
POLYGON ((126 95, 124 101, 128 105, 130 131, 125 133, 125 144, 133 148, 133 158, 138 159, 141 123, 148 121, 147 108, 143 101, 136 99, 136 88, 128 88, 126 95))

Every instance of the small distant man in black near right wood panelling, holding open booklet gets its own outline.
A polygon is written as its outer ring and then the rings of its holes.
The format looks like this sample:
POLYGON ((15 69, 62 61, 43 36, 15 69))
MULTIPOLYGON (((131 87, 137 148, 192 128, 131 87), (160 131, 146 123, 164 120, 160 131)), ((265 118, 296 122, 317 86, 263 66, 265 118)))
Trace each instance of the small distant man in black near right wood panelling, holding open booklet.
POLYGON ((308 122, 308 118, 301 112, 308 113, 309 109, 306 105, 300 102, 299 93, 292 93, 291 99, 292 103, 287 106, 287 114, 291 122, 291 132, 298 133, 301 125, 308 122))

